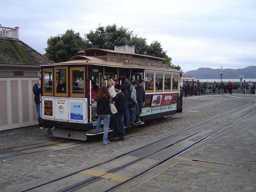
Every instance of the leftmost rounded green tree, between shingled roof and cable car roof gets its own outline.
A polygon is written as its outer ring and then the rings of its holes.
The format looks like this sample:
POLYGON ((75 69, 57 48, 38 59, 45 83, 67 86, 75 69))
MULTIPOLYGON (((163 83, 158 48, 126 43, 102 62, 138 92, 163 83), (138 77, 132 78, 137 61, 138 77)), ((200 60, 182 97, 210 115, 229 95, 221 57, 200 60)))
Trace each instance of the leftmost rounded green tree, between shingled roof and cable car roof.
POLYGON ((78 51, 90 47, 92 45, 80 37, 80 33, 68 29, 64 34, 48 38, 44 55, 55 63, 64 62, 77 55, 78 51))

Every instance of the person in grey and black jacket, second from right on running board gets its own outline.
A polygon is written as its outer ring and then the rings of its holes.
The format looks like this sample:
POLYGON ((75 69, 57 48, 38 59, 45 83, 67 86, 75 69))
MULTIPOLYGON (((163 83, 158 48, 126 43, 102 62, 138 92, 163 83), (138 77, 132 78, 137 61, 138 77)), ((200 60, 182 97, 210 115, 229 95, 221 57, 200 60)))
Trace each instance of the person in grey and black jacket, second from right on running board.
POLYGON ((133 127, 136 127, 135 116, 136 116, 136 105, 138 104, 136 99, 136 87, 138 86, 138 81, 132 81, 132 85, 130 86, 131 91, 131 99, 129 100, 129 112, 130 112, 130 124, 133 127))

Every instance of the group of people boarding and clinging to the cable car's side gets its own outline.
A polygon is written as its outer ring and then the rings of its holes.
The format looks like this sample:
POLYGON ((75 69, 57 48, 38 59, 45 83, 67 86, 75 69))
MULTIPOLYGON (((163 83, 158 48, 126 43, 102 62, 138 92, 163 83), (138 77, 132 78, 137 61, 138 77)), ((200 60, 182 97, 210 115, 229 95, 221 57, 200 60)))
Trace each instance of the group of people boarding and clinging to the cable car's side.
MULTIPOLYGON (((99 91, 91 89, 92 103, 96 104, 96 113, 92 113, 92 120, 96 121, 95 133, 100 130, 100 124, 103 120, 103 144, 107 145, 110 141, 124 141, 124 127, 141 125, 140 114, 142 106, 145 105, 146 95, 144 90, 145 81, 134 80, 132 85, 125 72, 121 73, 121 84, 115 81, 113 76, 107 80, 107 86, 103 85, 99 91), (92 91, 93 90, 93 91, 92 91), (94 96, 94 92, 96 93, 94 96), (114 102, 117 113, 112 114, 109 104, 114 102), (108 138, 108 130, 112 129, 112 134, 108 138), (116 139, 116 136, 118 138, 116 139)), ((90 92, 89 92, 90 94, 90 92)))

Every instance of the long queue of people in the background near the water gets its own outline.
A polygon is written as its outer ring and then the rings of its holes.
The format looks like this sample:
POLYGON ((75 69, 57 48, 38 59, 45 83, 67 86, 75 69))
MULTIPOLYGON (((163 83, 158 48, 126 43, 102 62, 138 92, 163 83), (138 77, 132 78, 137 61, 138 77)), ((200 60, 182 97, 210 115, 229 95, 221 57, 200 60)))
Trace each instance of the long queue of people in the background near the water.
MULTIPOLYGON (((208 86, 207 82, 203 84, 197 81, 186 81, 182 82, 182 86, 184 89, 184 96, 194 96, 194 95, 205 95, 205 94, 232 94, 232 83, 229 81, 227 84, 223 81, 221 82, 220 86, 214 81, 211 86, 208 86)), ((246 89, 248 88, 249 94, 255 94, 255 83, 249 81, 248 83, 242 81, 240 78, 240 82, 237 84, 237 90, 239 94, 246 93, 246 89)))

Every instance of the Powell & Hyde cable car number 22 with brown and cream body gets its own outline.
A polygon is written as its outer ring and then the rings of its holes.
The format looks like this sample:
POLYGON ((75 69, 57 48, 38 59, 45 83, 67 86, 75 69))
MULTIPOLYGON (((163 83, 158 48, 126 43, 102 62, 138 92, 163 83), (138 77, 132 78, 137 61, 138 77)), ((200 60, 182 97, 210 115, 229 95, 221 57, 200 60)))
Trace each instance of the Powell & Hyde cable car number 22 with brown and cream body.
POLYGON ((146 103, 141 121, 173 115, 177 108, 182 109, 179 77, 183 72, 169 68, 164 59, 136 54, 134 46, 127 45, 115 46, 114 51, 90 48, 79 53, 67 62, 41 65, 38 121, 55 127, 55 137, 86 140, 94 135, 92 84, 101 87, 109 76, 118 81, 122 72, 130 83, 145 80, 146 103))

